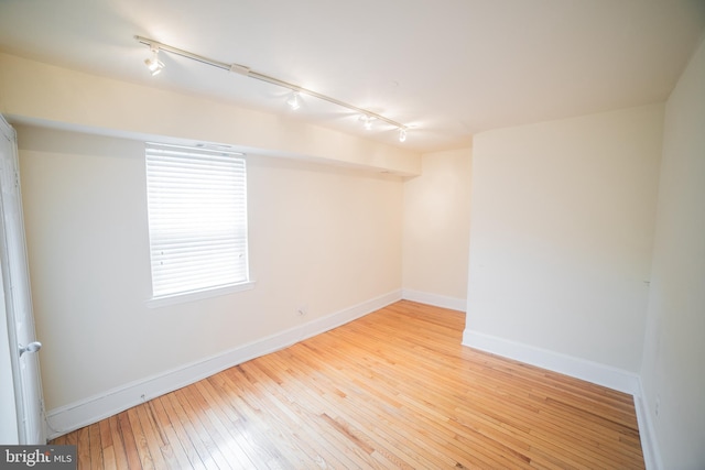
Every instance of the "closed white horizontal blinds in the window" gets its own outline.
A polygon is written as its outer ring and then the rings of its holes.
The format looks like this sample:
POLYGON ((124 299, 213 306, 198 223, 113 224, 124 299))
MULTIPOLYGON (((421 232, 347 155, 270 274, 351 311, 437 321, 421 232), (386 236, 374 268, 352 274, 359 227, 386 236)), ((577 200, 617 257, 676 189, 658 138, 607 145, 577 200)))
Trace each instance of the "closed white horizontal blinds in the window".
POLYGON ((147 144, 153 296, 248 282, 241 154, 147 144))

